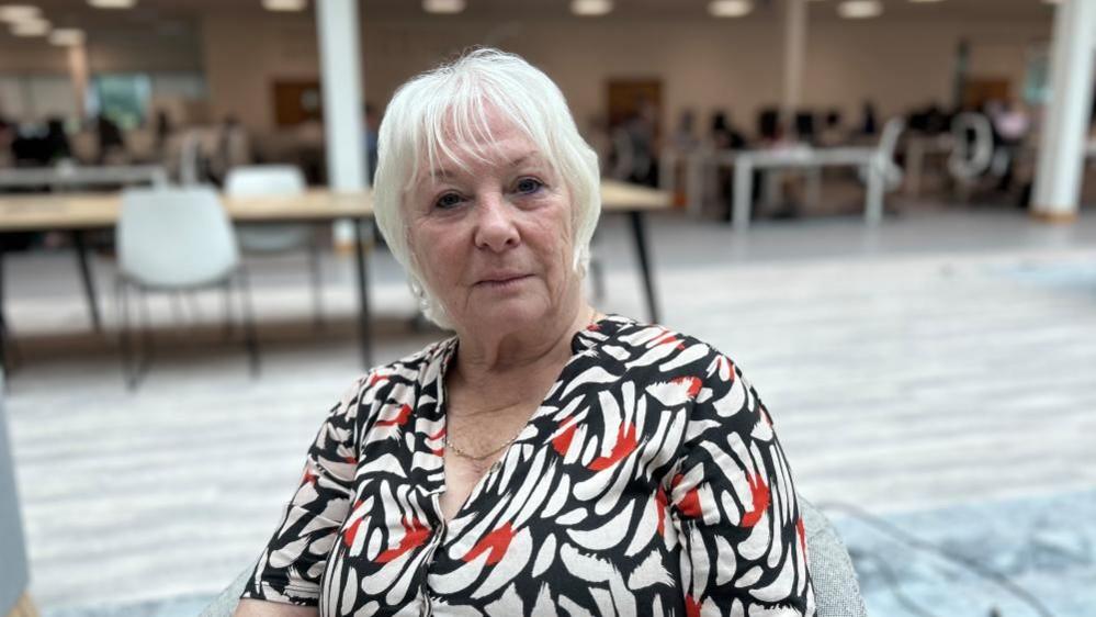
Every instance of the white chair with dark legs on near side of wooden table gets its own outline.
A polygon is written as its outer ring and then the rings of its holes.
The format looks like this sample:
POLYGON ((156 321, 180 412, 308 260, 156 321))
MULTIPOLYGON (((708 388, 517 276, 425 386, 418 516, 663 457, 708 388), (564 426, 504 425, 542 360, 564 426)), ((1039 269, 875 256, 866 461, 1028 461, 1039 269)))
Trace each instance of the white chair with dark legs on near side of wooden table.
POLYGON ((137 385, 151 355, 151 319, 144 303, 148 291, 222 287, 226 293, 226 318, 230 319, 228 299, 235 287, 241 296, 244 340, 251 372, 258 373, 259 349, 250 289, 240 267, 231 222, 212 188, 128 189, 122 193, 115 233, 122 363, 129 388, 137 385), (143 301, 145 354, 139 362, 133 357, 129 340, 131 289, 139 291, 143 301))

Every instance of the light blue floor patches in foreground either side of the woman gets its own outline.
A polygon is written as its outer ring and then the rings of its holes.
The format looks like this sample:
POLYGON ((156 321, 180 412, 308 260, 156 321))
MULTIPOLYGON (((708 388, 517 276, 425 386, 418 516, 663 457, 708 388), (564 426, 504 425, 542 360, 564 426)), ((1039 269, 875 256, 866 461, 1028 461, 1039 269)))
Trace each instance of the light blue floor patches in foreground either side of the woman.
MULTIPOLYGON (((1096 617, 1096 490, 893 514, 880 518, 888 530, 839 504, 816 505, 845 540, 872 617, 1096 617), (994 573, 1013 591, 896 539, 895 530, 994 573)), ((43 615, 194 617, 212 599, 47 608, 43 615)))

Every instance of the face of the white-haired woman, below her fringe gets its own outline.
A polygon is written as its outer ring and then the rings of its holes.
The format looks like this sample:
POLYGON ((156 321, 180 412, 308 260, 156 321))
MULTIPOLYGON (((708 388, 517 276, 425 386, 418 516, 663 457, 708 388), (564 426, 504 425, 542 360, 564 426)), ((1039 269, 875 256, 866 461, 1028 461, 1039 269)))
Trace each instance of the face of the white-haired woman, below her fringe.
POLYGON ((535 327, 579 301, 566 188, 520 131, 490 130, 489 147, 465 168, 443 158, 404 205, 422 282, 459 330, 535 327))

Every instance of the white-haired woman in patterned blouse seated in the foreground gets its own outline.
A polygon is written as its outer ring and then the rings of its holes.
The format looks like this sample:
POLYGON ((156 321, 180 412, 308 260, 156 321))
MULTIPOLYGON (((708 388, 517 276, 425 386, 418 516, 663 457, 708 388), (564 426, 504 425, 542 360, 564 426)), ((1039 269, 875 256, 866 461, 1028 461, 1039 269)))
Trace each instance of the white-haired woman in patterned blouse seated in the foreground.
POLYGON ((456 335, 335 405, 237 615, 807 616, 788 462, 725 356, 583 294, 598 161, 481 49, 403 86, 375 206, 456 335))

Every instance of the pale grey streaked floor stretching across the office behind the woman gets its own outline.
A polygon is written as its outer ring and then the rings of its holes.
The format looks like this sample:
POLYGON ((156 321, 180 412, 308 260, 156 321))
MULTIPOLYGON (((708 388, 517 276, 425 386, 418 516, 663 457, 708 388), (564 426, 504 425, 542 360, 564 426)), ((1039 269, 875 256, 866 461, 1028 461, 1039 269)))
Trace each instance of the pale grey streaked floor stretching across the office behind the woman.
MULTIPOLYGON (((993 504, 1080 503, 1091 514, 1092 210, 1051 226, 1007 207, 905 204, 878 228, 826 216, 761 221, 745 235, 666 215, 649 232, 663 322, 736 359, 771 410, 804 495, 920 521, 911 528, 938 528, 928 536, 948 542, 982 537, 967 530, 993 517, 993 504)), ((599 306, 644 317, 623 221, 603 222, 596 253, 608 288, 599 306)), ((261 375, 249 375, 238 341, 219 337, 219 295, 180 311, 155 299, 159 356, 131 393, 113 319, 106 335, 88 334, 71 256, 9 256, 20 363, 5 405, 33 593, 47 615, 192 614, 260 550, 325 410, 362 367, 349 259, 325 260, 319 330, 303 259, 250 267, 261 375)), ((109 290, 110 259, 95 271, 109 290)), ((414 303, 383 251, 372 254, 370 276, 377 361, 440 336, 410 327, 414 303)), ((112 315, 112 300, 103 305, 112 315)), ((901 557, 858 519, 833 514, 861 542, 855 554, 901 557)), ((1077 523, 1087 565, 1062 581, 1096 588, 1093 526, 1092 516, 1077 523)), ((858 560, 866 591, 879 594, 869 604, 906 614, 873 568, 858 560)), ((947 580, 911 582, 908 593, 933 597, 947 580)), ((1046 576, 1033 584, 1071 593, 1046 576)), ((948 615, 986 615, 979 606, 948 615)), ((1085 615, 1077 610, 1057 614, 1085 615)), ((1004 613, 1014 614, 1036 615, 1004 613)))

